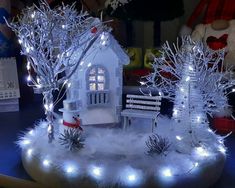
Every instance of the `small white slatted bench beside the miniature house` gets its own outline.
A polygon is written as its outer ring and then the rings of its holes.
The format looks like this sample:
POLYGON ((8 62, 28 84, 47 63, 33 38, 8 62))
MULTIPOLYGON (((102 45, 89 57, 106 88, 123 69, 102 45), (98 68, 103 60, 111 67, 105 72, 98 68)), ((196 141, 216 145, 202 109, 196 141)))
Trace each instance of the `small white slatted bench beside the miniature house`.
POLYGON ((160 114, 161 96, 126 95, 126 109, 121 112, 124 129, 131 124, 131 118, 152 119, 152 132, 160 114))

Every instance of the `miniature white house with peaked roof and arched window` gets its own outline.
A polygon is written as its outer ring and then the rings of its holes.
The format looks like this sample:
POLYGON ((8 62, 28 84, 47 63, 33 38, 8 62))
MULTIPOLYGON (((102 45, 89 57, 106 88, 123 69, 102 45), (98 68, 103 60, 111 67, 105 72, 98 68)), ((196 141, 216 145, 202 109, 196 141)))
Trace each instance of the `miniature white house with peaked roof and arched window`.
MULTIPOLYGON (((80 54, 79 49, 71 61, 77 62, 80 54)), ((128 55, 109 32, 103 32, 87 51, 71 77, 66 99, 79 100, 83 125, 120 122, 123 65, 128 63, 128 55)))

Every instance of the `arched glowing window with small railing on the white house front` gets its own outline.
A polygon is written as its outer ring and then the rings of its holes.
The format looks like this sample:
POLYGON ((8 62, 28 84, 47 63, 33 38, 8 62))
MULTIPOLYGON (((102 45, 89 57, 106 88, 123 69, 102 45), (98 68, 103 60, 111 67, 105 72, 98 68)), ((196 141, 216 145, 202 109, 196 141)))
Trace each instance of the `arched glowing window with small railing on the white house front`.
POLYGON ((109 103, 108 72, 105 67, 94 65, 87 70, 87 89, 88 106, 109 103))

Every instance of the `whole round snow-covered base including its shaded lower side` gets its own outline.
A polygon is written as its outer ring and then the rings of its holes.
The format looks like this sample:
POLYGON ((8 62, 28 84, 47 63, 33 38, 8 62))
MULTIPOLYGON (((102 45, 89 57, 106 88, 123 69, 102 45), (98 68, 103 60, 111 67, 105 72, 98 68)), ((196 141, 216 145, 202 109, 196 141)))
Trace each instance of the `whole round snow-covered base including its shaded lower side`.
POLYGON ((83 126, 85 145, 76 152, 66 150, 58 142, 57 129, 54 142, 48 143, 47 125, 43 121, 25 133, 19 144, 26 170, 44 184, 73 187, 84 178, 94 180, 99 186, 143 187, 151 181, 155 186, 170 187, 181 185, 184 181, 189 183, 190 180, 192 186, 206 187, 214 183, 220 176, 225 159, 222 138, 211 130, 197 132, 202 140, 208 138, 205 147, 189 145, 190 149, 183 153, 178 149, 176 139, 179 137, 176 137, 173 128, 172 120, 159 117, 154 133, 167 138, 171 144, 160 155, 147 154, 146 141, 153 133, 151 122, 146 119, 134 119, 126 131, 83 126))

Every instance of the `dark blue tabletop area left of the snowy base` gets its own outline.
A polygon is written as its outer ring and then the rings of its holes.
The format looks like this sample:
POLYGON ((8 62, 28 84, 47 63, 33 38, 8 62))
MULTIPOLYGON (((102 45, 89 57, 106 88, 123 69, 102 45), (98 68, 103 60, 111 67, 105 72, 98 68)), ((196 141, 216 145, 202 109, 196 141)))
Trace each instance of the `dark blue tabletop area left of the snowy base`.
POLYGON ((0 173, 30 179, 21 163, 21 150, 16 145, 19 135, 43 117, 41 104, 21 107, 19 112, 0 113, 0 173))

